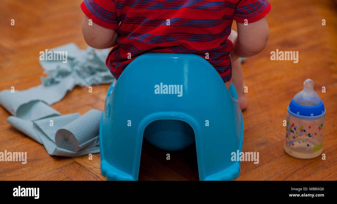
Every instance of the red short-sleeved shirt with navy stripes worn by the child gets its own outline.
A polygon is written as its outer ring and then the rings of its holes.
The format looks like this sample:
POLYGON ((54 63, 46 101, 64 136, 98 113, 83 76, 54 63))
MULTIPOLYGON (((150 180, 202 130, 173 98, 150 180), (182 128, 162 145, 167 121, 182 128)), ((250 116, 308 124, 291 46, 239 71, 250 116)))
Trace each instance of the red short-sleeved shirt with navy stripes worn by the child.
POLYGON ((137 56, 168 52, 205 57, 226 82, 232 77, 233 44, 227 37, 233 20, 258 21, 271 5, 268 0, 84 0, 81 8, 94 23, 117 30, 117 45, 106 58, 116 79, 137 56))

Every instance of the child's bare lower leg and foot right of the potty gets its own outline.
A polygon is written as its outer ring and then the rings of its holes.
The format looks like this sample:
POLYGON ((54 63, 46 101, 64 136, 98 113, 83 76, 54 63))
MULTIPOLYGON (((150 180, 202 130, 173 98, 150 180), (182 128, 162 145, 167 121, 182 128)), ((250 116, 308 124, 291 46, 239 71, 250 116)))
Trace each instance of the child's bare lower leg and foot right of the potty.
MULTIPOLYGON (((244 92, 245 85, 243 83, 242 68, 239 57, 232 62, 232 79, 236 91, 238 92, 240 109, 245 110, 247 107, 247 98, 244 92)), ((229 86, 227 88, 229 88, 229 86)))

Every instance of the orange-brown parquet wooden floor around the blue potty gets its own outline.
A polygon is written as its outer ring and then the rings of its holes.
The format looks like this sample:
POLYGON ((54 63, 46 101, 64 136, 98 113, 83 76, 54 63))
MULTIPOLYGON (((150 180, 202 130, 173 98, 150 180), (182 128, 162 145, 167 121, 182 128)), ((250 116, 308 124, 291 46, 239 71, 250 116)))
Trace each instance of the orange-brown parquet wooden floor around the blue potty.
MULTIPOLYGON (((337 7, 330 0, 270 0, 267 15, 270 37, 265 50, 243 64, 248 86, 248 109, 243 112, 243 152, 259 152, 259 163, 241 162, 236 180, 337 179, 337 7), (322 26, 326 19, 326 26, 322 26), (299 51, 299 63, 271 61, 270 52, 299 51), (287 106, 305 79, 315 82, 325 104, 323 153, 297 159, 283 150, 287 106), (321 87, 326 87, 326 93, 321 87)), ((85 48, 81 32, 81 0, 0 0, 0 90, 40 84, 41 50, 68 42, 85 48), (15 25, 10 21, 14 19, 15 25)), ((52 105, 62 114, 102 110, 108 85, 75 87, 52 105)), ((49 155, 42 145, 6 123, 9 113, 0 108, 0 151, 27 152, 27 164, 0 162, 1 180, 106 180, 100 174, 99 154, 75 158, 49 155)), ((159 150, 144 141, 139 180, 198 180, 195 147, 182 151, 159 150), (166 154, 171 160, 166 160, 166 154)))

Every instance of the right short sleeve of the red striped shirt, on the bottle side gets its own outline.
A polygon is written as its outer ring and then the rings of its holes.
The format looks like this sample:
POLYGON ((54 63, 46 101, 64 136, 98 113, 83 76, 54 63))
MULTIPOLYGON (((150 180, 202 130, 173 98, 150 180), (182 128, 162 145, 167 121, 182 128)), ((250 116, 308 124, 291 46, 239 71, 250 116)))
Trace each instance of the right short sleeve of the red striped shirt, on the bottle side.
POLYGON ((272 6, 268 0, 240 0, 235 8, 233 19, 238 23, 253 23, 265 17, 272 6))

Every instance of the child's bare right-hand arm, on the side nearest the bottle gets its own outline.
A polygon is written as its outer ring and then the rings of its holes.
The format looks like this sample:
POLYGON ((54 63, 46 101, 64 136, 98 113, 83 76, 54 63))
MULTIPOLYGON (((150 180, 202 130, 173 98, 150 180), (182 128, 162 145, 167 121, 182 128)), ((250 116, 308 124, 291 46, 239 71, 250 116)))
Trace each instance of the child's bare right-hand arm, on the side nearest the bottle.
MULTIPOLYGON (((234 57, 249 57, 260 53, 269 38, 269 27, 266 17, 244 25, 237 23, 238 37, 234 40, 232 55, 234 57)), ((233 59, 234 60, 234 59, 233 59)))

